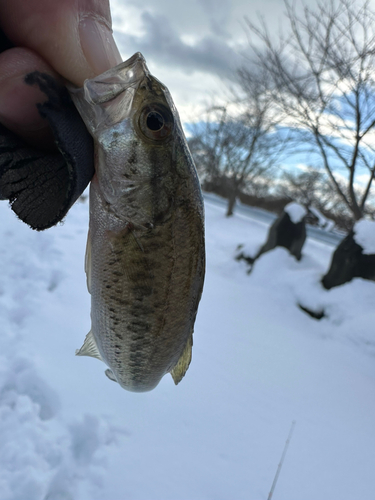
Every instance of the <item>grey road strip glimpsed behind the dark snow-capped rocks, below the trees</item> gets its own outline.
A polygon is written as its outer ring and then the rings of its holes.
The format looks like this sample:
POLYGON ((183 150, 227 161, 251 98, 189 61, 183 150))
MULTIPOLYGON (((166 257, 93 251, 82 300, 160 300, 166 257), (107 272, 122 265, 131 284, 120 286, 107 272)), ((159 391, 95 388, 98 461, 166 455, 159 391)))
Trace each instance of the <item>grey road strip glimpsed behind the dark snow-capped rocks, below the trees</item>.
MULTIPOLYGON (((226 209, 227 200, 221 198, 220 196, 217 196, 216 194, 204 192, 203 198, 206 203, 212 203, 214 205, 222 206, 223 209, 226 209)), ((242 203, 236 203, 234 212, 245 215, 250 219, 259 220, 269 225, 272 224, 272 222, 277 218, 277 215, 273 214, 272 212, 267 212, 266 210, 263 210, 261 208, 250 207, 249 205, 243 205, 242 203)), ((324 229, 320 229, 316 226, 311 226, 310 224, 306 224, 306 232, 309 238, 326 243, 327 245, 331 245, 333 247, 336 247, 345 236, 344 234, 325 231, 324 229)))

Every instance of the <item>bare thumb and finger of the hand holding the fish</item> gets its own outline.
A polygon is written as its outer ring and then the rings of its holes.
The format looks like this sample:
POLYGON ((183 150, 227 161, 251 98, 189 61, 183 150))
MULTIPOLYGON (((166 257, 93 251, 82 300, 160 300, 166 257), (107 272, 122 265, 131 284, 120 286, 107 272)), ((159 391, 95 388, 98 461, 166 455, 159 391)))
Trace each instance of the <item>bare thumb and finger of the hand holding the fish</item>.
POLYGON ((0 123, 48 149, 52 135, 36 108, 46 96, 25 75, 60 75, 81 86, 120 63, 109 1, 0 0, 0 27, 15 45, 0 54, 0 123))

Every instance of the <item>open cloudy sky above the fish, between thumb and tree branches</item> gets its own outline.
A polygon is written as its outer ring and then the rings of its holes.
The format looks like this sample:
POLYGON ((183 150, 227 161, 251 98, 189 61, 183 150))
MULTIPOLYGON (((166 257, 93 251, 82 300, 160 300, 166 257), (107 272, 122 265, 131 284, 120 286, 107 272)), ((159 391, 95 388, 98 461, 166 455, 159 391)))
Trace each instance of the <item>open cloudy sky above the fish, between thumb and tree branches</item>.
POLYGON ((111 0, 111 10, 123 59, 142 52, 186 122, 225 96, 226 82, 245 61, 245 17, 260 14, 276 31, 284 7, 282 0, 111 0))

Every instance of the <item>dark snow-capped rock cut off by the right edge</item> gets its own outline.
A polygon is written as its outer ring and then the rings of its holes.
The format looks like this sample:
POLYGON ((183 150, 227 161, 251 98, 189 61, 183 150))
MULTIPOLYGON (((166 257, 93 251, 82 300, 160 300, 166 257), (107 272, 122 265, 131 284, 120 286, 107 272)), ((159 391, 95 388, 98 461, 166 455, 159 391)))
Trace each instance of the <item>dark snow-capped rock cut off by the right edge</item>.
POLYGON ((353 278, 375 281, 375 254, 363 253, 363 248, 355 241, 354 231, 350 231, 336 248, 322 284, 329 290, 353 278))

